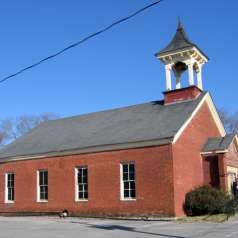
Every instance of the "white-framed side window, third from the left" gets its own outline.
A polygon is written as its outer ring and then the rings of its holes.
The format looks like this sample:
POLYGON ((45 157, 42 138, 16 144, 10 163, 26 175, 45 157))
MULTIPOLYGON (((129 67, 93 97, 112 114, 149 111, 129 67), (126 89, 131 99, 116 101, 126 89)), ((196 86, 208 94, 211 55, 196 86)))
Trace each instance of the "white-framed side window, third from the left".
POLYGON ((76 178, 76 201, 88 200, 88 168, 79 167, 75 173, 76 178))

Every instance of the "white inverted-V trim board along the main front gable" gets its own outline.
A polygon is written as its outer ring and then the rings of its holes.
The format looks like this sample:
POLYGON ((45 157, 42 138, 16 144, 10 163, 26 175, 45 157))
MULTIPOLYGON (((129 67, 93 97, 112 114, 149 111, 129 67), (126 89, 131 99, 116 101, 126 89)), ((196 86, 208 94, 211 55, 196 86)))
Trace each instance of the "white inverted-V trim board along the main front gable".
POLYGON ((210 109, 210 112, 212 114, 212 117, 217 125, 217 128, 220 132, 220 135, 222 137, 224 137, 226 135, 226 131, 224 129, 224 126, 221 122, 221 119, 218 115, 218 112, 216 110, 216 107, 212 101, 212 98, 210 96, 209 93, 206 93, 205 96, 203 97, 203 99, 201 100, 201 102, 197 105, 197 107, 195 108, 195 110, 193 111, 193 113, 191 114, 191 116, 185 121, 185 123, 182 125, 182 127, 180 127, 180 129, 178 130, 178 132, 175 134, 174 139, 172 144, 175 144, 176 141, 179 139, 179 137, 181 136, 181 134, 183 133, 183 131, 186 129, 186 127, 188 126, 188 124, 192 121, 192 119, 194 118, 194 116, 197 114, 197 112, 200 110, 200 108, 202 107, 202 105, 204 104, 204 102, 207 102, 207 105, 210 109))

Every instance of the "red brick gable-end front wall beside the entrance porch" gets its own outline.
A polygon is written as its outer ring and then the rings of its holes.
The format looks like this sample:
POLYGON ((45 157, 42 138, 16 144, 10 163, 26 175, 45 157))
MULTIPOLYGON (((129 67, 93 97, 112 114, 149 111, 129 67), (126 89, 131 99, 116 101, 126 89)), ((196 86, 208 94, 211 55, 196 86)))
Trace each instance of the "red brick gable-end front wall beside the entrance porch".
POLYGON ((173 146, 176 216, 184 215, 185 194, 204 183, 200 152, 207 138, 216 136, 220 136, 220 133, 207 103, 204 103, 173 146))

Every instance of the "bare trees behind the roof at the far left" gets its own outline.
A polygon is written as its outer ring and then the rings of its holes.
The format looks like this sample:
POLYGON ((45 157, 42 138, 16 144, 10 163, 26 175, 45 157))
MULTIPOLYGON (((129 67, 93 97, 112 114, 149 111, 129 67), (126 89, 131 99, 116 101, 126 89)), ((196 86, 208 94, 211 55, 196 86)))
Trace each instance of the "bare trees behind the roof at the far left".
POLYGON ((43 122, 57 119, 53 113, 41 115, 24 115, 17 118, 7 118, 0 121, 0 146, 23 136, 43 122))

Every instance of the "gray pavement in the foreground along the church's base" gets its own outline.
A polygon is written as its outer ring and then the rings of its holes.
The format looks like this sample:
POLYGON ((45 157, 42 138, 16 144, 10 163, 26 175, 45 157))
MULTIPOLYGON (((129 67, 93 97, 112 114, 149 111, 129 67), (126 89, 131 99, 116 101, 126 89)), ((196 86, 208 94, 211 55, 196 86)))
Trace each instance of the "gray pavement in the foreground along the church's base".
POLYGON ((0 217, 1 238, 237 238, 238 219, 226 223, 122 221, 56 217, 0 217))

